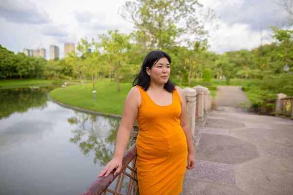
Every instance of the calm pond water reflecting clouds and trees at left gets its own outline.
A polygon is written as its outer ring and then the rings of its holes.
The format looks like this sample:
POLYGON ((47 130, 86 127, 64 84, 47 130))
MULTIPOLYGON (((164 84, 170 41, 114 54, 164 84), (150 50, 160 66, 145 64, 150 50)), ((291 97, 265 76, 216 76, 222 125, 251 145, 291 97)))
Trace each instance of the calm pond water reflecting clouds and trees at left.
POLYGON ((120 119, 53 103, 53 88, 0 90, 1 195, 79 195, 113 156, 120 119))

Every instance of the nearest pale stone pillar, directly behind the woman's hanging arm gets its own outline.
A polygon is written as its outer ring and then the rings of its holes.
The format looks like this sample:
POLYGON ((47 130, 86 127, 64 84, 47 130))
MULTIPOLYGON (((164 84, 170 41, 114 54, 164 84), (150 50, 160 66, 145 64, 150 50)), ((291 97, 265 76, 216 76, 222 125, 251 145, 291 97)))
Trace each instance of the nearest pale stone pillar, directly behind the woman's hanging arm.
POLYGON ((186 109, 188 123, 191 129, 191 136, 194 140, 194 129, 195 129, 195 112, 196 112, 196 90, 186 87, 183 89, 184 96, 186 99, 186 109))

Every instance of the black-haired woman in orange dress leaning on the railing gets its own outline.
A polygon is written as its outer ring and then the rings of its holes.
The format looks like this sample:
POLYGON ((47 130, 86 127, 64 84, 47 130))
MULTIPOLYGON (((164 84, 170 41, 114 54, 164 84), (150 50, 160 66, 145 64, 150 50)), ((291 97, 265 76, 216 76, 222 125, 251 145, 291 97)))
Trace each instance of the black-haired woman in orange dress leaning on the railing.
POLYGON ((135 119, 140 128, 136 140, 140 195, 178 195, 186 169, 195 164, 194 147, 182 89, 169 80, 171 59, 152 51, 144 59, 124 105, 113 159, 99 177, 122 166, 135 119), (188 164, 188 166, 186 166, 188 164))

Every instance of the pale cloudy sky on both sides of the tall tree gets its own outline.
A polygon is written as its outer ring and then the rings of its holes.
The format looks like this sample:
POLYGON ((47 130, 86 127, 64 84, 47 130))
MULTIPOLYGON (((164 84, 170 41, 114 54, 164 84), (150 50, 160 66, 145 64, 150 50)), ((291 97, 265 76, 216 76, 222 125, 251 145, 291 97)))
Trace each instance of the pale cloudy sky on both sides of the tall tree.
MULTIPOLYGON (((23 48, 46 49, 119 29, 130 33, 133 25, 118 13, 126 0, 0 0, 0 44, 15 53, 23 48)), ((275 0, 278 1, 278 0, 275 0)), ((270 26, 286 28, 287 13, 273 0, 199 0, 219 17, 210 34, 209 50, 216 53, 248 49, 272 42, 270 26), (262 31, 261 31, 262 29, 262 31), (262 32, 262 33, 261 33, 262 32)))

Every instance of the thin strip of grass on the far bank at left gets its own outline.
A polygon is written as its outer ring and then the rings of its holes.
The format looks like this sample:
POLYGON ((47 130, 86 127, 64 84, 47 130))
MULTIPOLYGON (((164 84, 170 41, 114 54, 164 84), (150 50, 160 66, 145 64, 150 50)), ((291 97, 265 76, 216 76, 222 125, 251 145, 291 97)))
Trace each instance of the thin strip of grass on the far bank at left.
POLYGON ((0 86, 12 85, 37 85, 37 84, 52 84, 63 82, 62 80, 47 80, 44 78, 27 78, 27 79, 0 79, 0 86))

